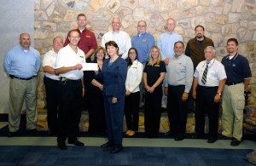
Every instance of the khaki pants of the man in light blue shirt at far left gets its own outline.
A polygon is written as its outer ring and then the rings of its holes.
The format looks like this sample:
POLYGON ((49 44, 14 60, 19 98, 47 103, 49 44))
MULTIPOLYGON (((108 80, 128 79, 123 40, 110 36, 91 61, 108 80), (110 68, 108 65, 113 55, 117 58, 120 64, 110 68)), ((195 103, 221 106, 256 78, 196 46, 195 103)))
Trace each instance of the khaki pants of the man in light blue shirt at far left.
POLYGON ((20 127, 20 112, 23 102, 26 103, 26 129, 36 129, 38 112, 38 81, 10 79, 9 82, 9 131, 15 132, 20 127))

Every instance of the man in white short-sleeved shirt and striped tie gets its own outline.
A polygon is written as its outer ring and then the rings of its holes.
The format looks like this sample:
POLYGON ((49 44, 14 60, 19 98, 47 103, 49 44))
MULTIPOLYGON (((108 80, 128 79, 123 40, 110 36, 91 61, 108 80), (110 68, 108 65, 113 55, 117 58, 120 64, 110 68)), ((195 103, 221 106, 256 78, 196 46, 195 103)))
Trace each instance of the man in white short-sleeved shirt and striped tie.
POLYGON ((208 46, 205 50, 206 60, 195 68, 193 98, 195 99, 195 135, 202 138, 205 134, 205 114, 209 118, 208 143, 218 138, 218 109, 221 94, 226 81, 224 66, 216 60, 216 49, 208 46))

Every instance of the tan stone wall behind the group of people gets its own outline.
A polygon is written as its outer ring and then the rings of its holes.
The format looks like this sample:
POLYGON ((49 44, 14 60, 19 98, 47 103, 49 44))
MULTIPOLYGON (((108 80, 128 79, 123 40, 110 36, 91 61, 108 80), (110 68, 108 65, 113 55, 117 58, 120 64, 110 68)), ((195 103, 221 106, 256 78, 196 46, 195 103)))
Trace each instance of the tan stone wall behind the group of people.
MULTIPOLYGON (((247 57, 253 78, 248 104, 256 104, 256 0, 35 0, 35 48, 44 55, 51 49, 55 36, 67 37, 67 31, 77 28, 76 17, 84 13, 88 29, 94 31, 97 42, 111 30, 113 15, 122 19, 121 29, 130 36, 137 33, 137 21, 148 23, 148 32, 155 41, 164 32, 166 19, 177 20, 175 31, 187 43, 195 37, 194 28, 205 26, 217 50, 217 59, 227 54, 228 38, 239 40, 239 53, 247 57)), ((38 106, 44 106, 44 72, 39 72, 38 106)))

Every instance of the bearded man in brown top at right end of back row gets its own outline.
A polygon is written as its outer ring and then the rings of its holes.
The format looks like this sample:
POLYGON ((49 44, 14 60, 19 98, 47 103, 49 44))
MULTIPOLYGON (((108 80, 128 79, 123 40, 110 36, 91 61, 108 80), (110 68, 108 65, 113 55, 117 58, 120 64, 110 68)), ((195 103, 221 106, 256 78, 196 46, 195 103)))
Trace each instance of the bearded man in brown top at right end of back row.
MULTIPOLYGON (((204 26, 195 26, 195 37, 189 40, 185 50, 185 54, 189 56, 193 61, 194 71, 195 67, 199 64, 199 62, 201 62, 202 60, 206 60, 204 49, 206 49, 207 46, 214 47, 212 39, 205 37, 204 33, 204 26)), ((192 98, 192 90, 189 93, 188 109, 190 112, 194 112, 194 100, 192 98)))

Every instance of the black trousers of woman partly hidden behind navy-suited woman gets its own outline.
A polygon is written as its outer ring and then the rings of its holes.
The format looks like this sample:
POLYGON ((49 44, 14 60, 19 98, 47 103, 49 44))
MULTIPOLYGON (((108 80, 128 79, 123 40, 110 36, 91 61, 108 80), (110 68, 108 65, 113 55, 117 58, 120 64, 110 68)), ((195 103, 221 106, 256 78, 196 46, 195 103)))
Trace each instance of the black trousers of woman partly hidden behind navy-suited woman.
POLYGON ((89 132, 102 134, 106 132, 104 100, 102 94, 87 92, 88 96, 88 112, 89 112, 89 132))

